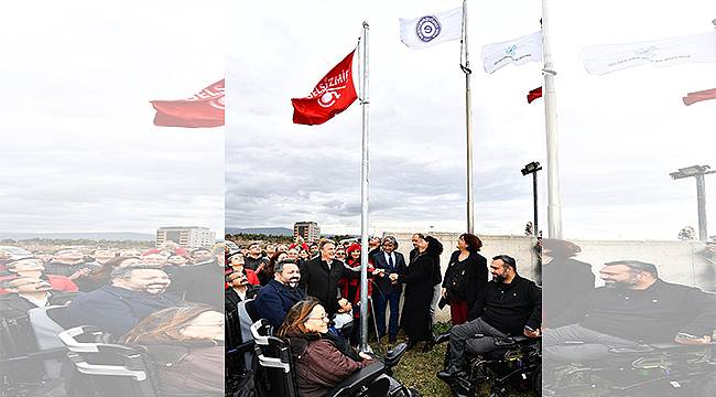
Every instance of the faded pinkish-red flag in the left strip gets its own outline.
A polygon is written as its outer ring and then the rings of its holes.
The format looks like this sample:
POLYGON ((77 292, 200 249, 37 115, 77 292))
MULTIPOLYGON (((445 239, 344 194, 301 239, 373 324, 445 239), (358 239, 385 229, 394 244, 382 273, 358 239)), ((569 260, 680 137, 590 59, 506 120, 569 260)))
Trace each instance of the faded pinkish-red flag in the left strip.
POLYGON ((219 127, 224 126, 224 78, 181 100, 152 100, 156 109, 154 126, 219 127))

